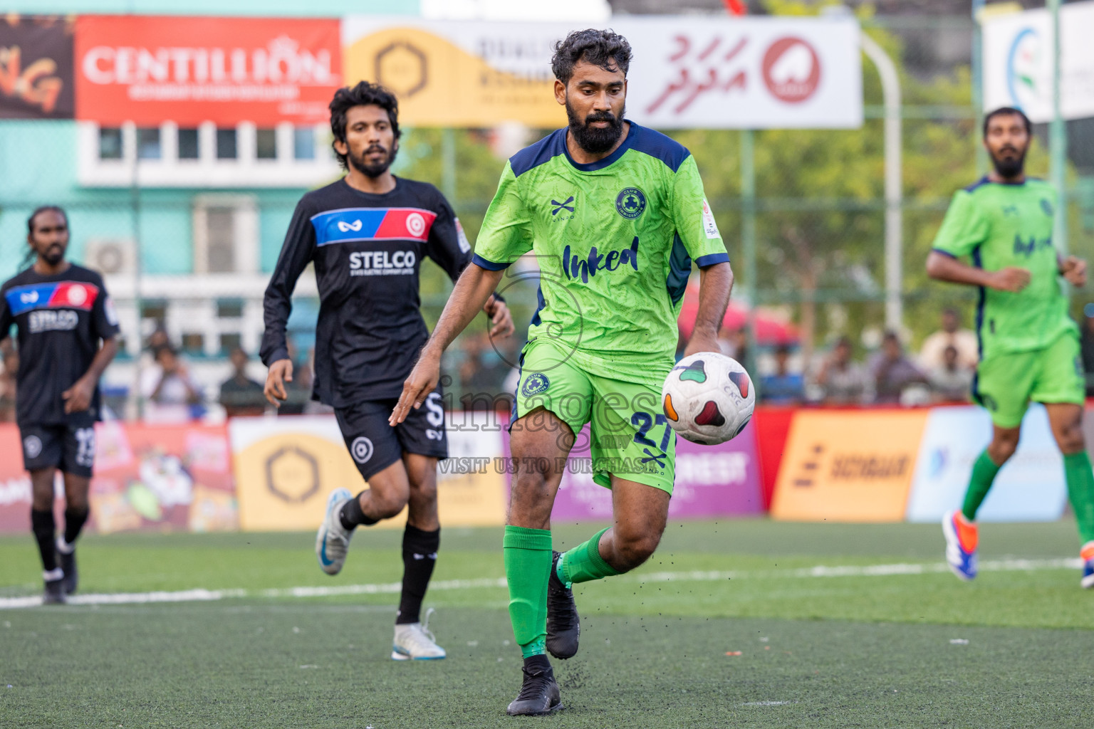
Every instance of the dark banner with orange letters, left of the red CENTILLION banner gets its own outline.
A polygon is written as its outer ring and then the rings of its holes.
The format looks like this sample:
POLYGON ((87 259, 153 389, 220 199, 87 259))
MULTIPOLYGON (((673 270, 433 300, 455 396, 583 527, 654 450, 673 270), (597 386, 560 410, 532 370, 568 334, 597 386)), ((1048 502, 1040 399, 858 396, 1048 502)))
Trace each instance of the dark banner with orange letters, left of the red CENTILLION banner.
POLYGON ((71 119, 72 19, 0 17, 0 118, 71 119))

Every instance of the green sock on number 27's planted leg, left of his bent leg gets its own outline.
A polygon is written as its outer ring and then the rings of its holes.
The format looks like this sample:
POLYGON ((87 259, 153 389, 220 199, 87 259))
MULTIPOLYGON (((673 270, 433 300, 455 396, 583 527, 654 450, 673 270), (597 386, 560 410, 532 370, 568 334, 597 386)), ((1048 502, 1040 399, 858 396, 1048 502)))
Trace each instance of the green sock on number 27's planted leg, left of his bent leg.
POLYGON ((505 527, 502 541, 505 580, 509 583, 509 619, 525 658, 546 651, 547 578, 550 576, 549 529, 505 527))

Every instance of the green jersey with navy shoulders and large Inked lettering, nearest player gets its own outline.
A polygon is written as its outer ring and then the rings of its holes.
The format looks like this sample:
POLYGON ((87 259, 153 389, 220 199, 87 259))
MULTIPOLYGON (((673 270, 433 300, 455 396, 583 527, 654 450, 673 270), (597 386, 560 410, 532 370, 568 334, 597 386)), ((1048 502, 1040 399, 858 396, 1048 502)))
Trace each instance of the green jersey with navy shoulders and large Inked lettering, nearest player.
POLYGON ((498 271, 533 251, 538 272, 513 277, 539 283, 528 341, 549 339, 589 372, 660 388, 691 261, 730 260, 695 157, 630 122, 619 149, 580 164, 566 133, 509 160, 474 260, 498 271))

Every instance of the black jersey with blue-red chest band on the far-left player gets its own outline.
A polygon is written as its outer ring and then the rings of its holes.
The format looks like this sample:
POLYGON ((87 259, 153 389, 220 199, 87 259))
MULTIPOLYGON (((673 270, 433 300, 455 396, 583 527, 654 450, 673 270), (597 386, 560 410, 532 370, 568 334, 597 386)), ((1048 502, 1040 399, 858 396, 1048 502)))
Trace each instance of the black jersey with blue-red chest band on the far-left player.
MULTIPOLYGON (((15 419, 20 425, 68 422, 61 393, 83 377, 104 339, 118 333, 118 317, 103 278, 81 266, 53 275, 33 268, 0 286, 0 337, 18 329, 15 419)), ((98 418, 98 387, 91 414, 98 418)))

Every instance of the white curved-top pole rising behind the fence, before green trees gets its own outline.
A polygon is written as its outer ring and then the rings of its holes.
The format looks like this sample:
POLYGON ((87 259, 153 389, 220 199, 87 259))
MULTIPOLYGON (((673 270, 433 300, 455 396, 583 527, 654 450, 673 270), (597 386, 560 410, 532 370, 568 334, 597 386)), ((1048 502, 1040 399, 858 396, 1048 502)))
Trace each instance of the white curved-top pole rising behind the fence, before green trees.
POLYGON ((899 331, 904 325, 904 188, 901 184, 900 77, 893 59, 865 33, 862 51, 874 62, 882 79, 885 103, 885 328, 899 331))

